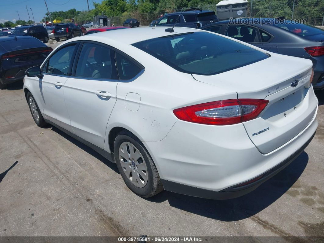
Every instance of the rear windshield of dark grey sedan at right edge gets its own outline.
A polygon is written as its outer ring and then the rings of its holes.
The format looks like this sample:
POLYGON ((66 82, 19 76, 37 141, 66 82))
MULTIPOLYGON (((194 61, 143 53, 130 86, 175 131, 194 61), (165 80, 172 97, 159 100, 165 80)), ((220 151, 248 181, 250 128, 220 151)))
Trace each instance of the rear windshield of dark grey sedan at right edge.
POLYGON ((274 24, 274 25, 300 36, 312 36, 312 35, 324 34, 324 30, 306 24, 295 24, 293 22, 290 22, 290 24, 283 23, 283 24, 274 24))

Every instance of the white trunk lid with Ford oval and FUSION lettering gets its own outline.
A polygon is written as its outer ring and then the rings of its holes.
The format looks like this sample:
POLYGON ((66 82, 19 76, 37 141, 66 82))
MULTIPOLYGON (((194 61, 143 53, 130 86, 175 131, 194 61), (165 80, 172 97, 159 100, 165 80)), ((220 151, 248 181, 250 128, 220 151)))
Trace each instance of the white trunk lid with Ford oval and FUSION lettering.
POLYGON ((238 99, 269 100, 258 118, 243 122, 250 140, 264 154, 298 135, 317 111, 313 89, 305 88, 310 80, 312 62, 271 55, 257 63, 217 75, 193 74, 198 81, 237 91, 238 99), (292 87, 294 80, 298 83, 292 87))

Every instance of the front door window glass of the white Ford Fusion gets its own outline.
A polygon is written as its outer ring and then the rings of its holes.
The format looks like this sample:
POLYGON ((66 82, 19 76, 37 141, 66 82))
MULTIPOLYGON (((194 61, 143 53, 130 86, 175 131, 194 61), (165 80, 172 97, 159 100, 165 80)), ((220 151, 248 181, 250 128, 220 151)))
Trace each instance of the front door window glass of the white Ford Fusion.
POLYGON ((69 45, 56 51, 45 63, 43 72, 67 76, 70 71, 75 45, 69 45))

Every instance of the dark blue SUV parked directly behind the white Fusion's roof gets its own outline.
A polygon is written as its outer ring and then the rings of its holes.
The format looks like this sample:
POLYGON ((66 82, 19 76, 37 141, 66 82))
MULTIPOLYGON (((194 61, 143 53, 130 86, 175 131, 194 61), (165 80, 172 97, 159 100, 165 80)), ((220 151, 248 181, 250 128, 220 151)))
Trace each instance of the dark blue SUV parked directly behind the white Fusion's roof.
POLYGON ((155 26, 176 26, 200 28, 206 24, 218 22, 214 11, 210 10, 191 10, 166 14, 157 20, 155 26))

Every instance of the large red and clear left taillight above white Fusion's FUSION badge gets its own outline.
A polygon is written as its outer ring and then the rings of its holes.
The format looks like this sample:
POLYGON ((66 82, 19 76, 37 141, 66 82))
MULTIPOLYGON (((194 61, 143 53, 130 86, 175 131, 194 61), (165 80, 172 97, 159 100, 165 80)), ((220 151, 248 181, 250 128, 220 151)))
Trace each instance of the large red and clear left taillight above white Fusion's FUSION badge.
POLYGON ((183 121, 232 125, 258 117, 268 103, 268 100, 259 99, 222 100, 186 106, 173 110, 173 113, 183 121))

